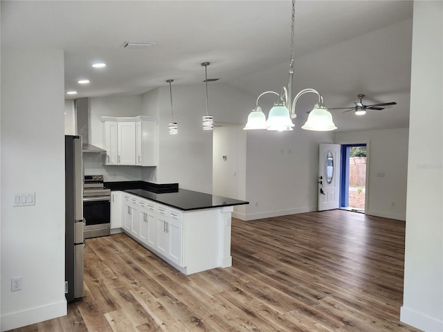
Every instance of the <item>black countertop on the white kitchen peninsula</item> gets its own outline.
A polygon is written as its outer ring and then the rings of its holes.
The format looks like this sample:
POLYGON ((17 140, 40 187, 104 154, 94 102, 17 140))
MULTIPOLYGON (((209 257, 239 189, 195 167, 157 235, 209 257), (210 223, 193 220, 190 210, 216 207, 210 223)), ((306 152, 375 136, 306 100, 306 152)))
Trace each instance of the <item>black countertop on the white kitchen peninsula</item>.
POLYGON ((129 181, 125 183, 107 182, 105 187, 141 196, 183 211, 249 204, 249 202, 228 197, 181 189, 178 184, 156 185, 143 181, 129 181))

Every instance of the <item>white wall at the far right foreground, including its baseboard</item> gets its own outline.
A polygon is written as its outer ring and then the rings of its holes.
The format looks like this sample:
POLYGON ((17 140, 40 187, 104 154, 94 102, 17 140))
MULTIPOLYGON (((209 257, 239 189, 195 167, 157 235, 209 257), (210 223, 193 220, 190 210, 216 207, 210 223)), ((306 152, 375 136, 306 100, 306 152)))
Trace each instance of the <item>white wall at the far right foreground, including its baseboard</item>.
POLYGON ((443 1, 414 1, 401 321, 443 331, 443 1))

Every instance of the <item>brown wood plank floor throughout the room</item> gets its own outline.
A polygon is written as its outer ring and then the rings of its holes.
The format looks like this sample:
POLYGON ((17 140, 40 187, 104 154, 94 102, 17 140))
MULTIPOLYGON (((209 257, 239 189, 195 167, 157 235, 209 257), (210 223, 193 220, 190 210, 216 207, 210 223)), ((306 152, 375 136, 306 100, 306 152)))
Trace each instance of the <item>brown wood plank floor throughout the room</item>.
POLYGON ((125 234, 88 239, 82 301, 12 331, 419 331, 399 322, 404 232, 342 210, 233 219, 233 266, 190 276, 125 234))

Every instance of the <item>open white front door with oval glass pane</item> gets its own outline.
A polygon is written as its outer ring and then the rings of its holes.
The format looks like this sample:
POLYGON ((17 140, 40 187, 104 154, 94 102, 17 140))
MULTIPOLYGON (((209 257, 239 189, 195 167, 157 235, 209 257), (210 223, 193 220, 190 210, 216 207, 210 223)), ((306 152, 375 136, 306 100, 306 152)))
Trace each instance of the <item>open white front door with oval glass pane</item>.
POLYGON ((318 211, 338 209, 340 201, 340 145, 320 144, 318 211))

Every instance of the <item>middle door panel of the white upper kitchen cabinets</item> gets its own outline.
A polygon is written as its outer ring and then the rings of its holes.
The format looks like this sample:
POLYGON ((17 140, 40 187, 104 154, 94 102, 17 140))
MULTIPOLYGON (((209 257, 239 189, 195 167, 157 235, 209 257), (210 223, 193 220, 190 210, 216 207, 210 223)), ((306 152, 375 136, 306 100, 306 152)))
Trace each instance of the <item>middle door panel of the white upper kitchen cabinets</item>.
POLYGON ((135 122, 118 122, 118 165, 136 165, 135 122))

